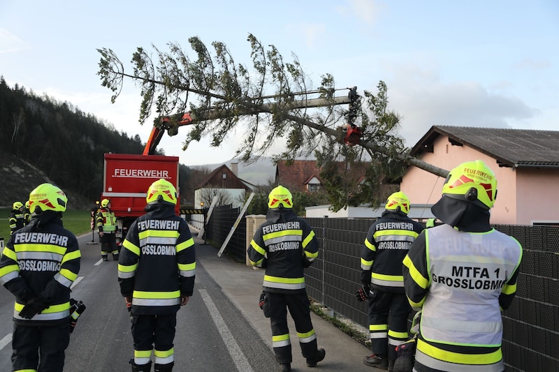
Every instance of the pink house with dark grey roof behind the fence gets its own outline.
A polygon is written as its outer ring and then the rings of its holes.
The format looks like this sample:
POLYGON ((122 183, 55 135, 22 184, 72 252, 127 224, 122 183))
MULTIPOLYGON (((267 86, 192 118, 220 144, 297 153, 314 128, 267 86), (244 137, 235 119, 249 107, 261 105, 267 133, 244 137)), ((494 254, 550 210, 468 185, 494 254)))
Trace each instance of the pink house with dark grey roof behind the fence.
MULTIPOLYGON (((433 126, 410 151, 451 170, 482 160, 497 177, 491 223, 559 225, 559 131, 433 126)), ((409 167, 400 190, 412 204, 434 204, 444 178, 409 167)))

